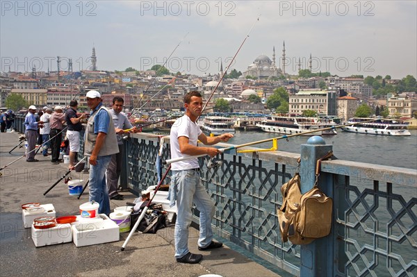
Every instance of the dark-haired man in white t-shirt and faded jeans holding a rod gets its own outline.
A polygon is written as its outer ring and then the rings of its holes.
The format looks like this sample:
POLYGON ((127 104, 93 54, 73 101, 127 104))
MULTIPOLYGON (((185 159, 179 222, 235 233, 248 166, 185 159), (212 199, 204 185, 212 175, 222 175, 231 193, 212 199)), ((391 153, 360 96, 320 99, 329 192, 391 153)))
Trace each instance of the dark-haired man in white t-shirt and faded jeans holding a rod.
MULTIPOLYGON (((219 152, 213 147, 199 147, 197 140, 203 144, 213 145, 227 142, 233 135, 225 133, 217 137, 207 137, 196 124, 202 113, 203 99, 199 92, 188 92, 184 96, 186 114, 172 125, 170 133, 171 158, 197 156, 206 154, 214 157, 219 152)), ((215 212, 211 201, 199 176, 198 158, 174 162, 171 165, 172 176, 170 196, 177 199, 177 221, 175 222, 175 258, 177 262, 195 264, 202 260, 201 254, 193 254, 188 250, 188 233, 193 219, 193 202, 199 210, 199 251, 222 247, 221 242, 213 241, 211 219, 215 212)), ((171 199, 172 201, 172 199, 171 199)))

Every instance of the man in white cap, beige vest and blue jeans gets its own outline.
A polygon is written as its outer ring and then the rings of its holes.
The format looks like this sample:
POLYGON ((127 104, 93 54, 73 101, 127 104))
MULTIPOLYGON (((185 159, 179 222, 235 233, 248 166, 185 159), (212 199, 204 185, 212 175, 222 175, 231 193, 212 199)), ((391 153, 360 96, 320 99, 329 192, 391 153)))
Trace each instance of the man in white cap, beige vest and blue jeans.
POLYGON ((88 108, 91 109, 90 118, 85 127, 84 156, 89 156, 89 201, 100 204, 99 213, 110 215, 110 199, 106 187, 106 169, 111 156, 119 153, 113 119, 108 110, 101 103, 101 95, 90 90, 85 95, 88 108))

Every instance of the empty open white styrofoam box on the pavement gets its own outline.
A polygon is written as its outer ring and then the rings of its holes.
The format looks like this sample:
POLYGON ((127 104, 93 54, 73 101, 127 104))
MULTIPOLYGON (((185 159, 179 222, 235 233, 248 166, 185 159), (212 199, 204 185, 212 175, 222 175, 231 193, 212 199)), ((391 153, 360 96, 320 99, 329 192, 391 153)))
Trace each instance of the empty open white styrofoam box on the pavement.
POLYGON ((111 219, 94 220, 72 224, 72 241, 75 246, 87 246, 117 242, 120 239, 119 226, 111 219))

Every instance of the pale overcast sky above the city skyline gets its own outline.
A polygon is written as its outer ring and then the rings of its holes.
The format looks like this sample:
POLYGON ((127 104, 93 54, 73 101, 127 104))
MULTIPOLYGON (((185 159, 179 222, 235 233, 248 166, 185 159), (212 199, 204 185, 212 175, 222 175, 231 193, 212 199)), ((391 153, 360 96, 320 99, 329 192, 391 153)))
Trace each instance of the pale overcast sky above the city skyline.
POLYGON ((215 74, 245 44, 231 69, 265 54, 297 73, 417 76, 417 1, 1 1, 2 72, 149 69, 215 74), (257 18, 259 17, 259 21, 257 18), (251 27, 252 31, 251 30, 251 27))

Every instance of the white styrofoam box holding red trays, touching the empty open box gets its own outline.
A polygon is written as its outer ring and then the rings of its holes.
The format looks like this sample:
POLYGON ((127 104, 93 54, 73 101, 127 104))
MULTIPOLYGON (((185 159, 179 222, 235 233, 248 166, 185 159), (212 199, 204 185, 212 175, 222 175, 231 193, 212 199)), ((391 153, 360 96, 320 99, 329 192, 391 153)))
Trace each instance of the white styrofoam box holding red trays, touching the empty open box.
POLYGON ((32 240, 36 247, 72 242, 71 224, 56 224, 47 229, 36 229, 32 224, 32 240))

